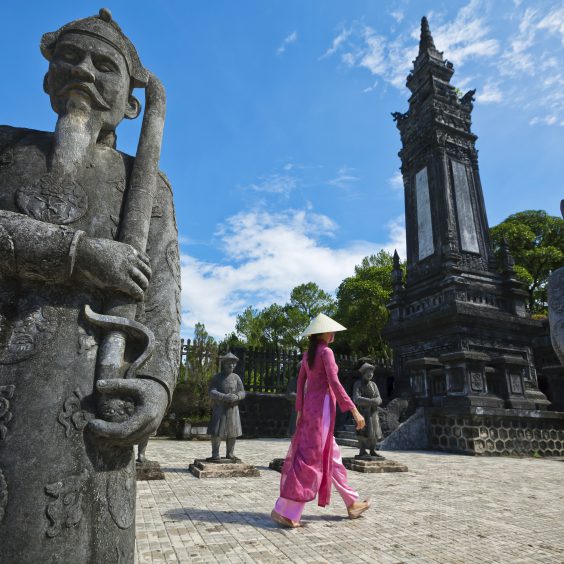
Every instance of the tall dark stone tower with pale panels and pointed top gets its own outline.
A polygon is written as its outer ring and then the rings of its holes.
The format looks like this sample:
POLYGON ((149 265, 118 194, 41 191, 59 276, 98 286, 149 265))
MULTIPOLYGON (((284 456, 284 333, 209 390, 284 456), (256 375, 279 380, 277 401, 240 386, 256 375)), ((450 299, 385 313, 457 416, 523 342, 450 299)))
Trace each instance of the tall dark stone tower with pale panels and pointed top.
MULTIPOLYGON (((409 110, 393 114, 402 141, 407 234, 407 277, 396 257, 385 332, 396 393, 443 415, 545 410, 531 349, 541 323, 526 311, 527 293, 509 250, 501 250, 499 265, 492 253, 470 127, 475 90, 461 96, 450 83, 453 74, 423 18, 406 83, 409 110)), ((462 442, 448 449, 485 448, 462 442)))

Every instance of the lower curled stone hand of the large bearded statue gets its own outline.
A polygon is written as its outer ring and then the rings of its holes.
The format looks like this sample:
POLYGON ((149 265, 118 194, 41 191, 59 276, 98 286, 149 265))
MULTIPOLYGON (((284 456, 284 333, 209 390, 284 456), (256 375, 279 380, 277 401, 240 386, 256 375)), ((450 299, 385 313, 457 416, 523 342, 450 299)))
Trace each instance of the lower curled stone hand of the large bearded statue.
POLYGON ((154 380, 99 380, 100 418, 89 422, 92 433, 112 444, 137 444, 157 430, 168 396, 154 380))

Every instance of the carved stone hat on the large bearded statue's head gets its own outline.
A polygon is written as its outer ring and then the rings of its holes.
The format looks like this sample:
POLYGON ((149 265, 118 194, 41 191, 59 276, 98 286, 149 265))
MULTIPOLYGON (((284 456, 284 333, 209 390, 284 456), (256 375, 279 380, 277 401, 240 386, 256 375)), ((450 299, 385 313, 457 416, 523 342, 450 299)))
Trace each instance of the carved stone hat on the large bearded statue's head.
POLYGON ((57 41, 67 33, 82 33, 108 43, 123 55, 131 77, 131 86, 133 88, 143 88, 147 85, 149 78, 147 69, 141 64, 133 43, 112 19, 112 13, 108 9, 102 8, 97 16, 75 20, 57 31, 43 34, 41 38, 41 53, 48 61, 51 61, 53 57, 57 41))

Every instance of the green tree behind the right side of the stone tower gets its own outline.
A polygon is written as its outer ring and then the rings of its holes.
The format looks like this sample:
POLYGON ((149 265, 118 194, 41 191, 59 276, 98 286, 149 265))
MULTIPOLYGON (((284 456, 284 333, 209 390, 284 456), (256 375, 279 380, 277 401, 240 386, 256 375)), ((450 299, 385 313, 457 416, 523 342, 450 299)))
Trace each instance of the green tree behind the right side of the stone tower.
POLYGON ((531 313, 546 314, 548 276, 564 265, 564 220, 542 210, 527 210, 492 227, 490 235, 498 260, 503 241, 507 241, 515 274, 529 291, 531 313))

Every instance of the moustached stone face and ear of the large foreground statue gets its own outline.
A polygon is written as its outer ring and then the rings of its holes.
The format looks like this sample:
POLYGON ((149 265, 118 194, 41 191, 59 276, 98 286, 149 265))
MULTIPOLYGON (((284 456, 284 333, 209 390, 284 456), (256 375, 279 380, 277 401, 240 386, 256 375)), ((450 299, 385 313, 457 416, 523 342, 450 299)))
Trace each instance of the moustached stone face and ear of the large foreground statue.
POLYGON ((97 114, 100 129, 113 131, 124 117, 136 117, 123 55, 95 37, 68 33, 57 42, 47 73, 53 110, 63 115, 70 95, 83 96, 97 114))

